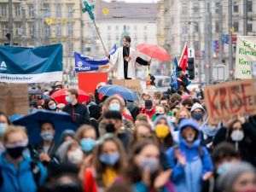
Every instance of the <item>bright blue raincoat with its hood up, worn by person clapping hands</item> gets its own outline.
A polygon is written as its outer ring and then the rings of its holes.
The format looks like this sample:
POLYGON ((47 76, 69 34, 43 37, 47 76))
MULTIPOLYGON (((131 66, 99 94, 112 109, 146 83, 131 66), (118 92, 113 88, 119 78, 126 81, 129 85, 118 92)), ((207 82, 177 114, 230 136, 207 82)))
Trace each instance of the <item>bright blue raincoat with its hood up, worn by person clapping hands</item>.
POLYGON ((166 157, 172 167, 172 182, 177 192, 201 191, 202 177, 206 172, 212 172, 212 160, 207 148, 201 146, 201 131, 199 125, 192 119, 184 119, 179 127, 179 143, 177 147, 169 148, 166 157), (195 129, 198 134, 192 146, 186 143, 181 132, 187 126, 195 129), (186 158, 186 165, 182 166, 177 162, 176 149, 179 148, 186 158))

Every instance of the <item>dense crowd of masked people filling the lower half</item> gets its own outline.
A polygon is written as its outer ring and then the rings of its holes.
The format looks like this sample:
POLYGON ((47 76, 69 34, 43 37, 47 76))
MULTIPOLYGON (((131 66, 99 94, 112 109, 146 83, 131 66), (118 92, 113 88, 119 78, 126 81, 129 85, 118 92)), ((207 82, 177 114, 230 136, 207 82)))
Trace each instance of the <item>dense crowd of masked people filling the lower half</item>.
POLYGON ((69 113, 78 125, 55 138, 42 121, 32 145, 26 128, 0 113, 2 192, 255 192, 256 116, 210 125, 202 90, 143 93, 139 102, 102 96, 67 104, 30 96, 31 112, 69 113))

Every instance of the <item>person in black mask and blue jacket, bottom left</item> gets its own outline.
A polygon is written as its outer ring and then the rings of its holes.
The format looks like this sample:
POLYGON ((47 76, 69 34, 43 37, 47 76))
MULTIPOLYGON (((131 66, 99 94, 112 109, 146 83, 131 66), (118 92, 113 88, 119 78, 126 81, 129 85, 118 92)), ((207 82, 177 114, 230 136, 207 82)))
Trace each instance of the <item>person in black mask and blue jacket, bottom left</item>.
POLYGON ((28 144, 25 127, 9 126, 3 135, 6 151, 0 156, 0 191, 36 192, 47 172, 39 162, 23 155, 28 144))

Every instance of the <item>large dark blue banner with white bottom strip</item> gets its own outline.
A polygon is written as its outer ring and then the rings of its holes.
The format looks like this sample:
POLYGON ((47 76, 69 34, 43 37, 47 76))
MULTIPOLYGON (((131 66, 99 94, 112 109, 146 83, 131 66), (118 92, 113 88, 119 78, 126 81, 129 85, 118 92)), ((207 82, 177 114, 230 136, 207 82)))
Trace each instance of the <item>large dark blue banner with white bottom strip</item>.
POLYGON ((45 83, 61 80, 61 44, 37 48, 0 46, 0 82, 45 83))

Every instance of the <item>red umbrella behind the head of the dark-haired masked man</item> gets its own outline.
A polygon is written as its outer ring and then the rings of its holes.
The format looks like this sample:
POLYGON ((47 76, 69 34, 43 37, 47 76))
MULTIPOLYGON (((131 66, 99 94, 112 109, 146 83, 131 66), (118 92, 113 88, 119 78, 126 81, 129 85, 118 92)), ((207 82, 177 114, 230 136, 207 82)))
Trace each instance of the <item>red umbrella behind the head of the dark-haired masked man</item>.
MULTIPOLYGON (((66 101, 66 96, 67 96, 67 89, 61 89, 57 90, 52 94, 50 97, 55 99, 56 102, 58 103, 65 103, 67 104, 66 101)), ((79 102, 89 102, 90 101, 90 96, 84 92, 84 90, 79 90, 79 102)))

